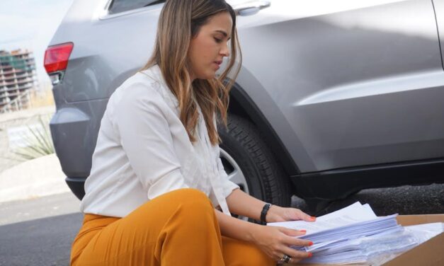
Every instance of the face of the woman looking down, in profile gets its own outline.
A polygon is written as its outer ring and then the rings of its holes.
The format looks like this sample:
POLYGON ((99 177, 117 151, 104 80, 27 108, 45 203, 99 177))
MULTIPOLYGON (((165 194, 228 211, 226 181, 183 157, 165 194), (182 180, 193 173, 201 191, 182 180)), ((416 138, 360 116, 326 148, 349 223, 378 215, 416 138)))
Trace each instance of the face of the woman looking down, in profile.
POLYGON ((215 77, 222 58, 229 56, 227 42, 232 35, 232 25, 232 17, 228 12, 217 13, 191 39, 188 49, 191 80, 215 77))

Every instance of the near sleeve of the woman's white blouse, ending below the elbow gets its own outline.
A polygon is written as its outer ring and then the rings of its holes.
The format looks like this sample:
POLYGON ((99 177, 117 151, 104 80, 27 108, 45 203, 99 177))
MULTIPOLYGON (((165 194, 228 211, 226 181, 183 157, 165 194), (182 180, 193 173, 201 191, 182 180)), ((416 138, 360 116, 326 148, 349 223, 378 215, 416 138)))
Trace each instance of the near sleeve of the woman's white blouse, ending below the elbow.
POLYGON ((123 93, 113 112, 115 127, 148 198, 188 187, 173 147, 164 99, 144 83, 132 84, 123 93))

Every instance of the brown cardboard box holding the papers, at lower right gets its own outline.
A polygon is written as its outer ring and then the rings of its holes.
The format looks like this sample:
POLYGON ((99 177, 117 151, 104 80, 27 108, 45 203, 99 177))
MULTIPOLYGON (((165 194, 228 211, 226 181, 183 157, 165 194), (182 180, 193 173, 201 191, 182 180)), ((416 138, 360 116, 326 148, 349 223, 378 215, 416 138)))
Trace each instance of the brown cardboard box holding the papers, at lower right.
MULTIPOLYGON (((399 215, 398 223, 402 226, 444 222, 444 214, 399 215)), ((302 264, 306 266, 326 266, 327 264, 302 264)), ((329 266, 344 266, 333 265, 329 266)), ((352 264, 348 264, 351 266, 352 264)), ((356 265, 356 264, 353 264, 356 265)), ((359 265, 359 264, 357 264, 359 265)), ((407 250, 401 255, 385 262, 384 266, 444 266, 444 233, 407 250)), ((360 264, 362 266, 362 264, 360 264)))

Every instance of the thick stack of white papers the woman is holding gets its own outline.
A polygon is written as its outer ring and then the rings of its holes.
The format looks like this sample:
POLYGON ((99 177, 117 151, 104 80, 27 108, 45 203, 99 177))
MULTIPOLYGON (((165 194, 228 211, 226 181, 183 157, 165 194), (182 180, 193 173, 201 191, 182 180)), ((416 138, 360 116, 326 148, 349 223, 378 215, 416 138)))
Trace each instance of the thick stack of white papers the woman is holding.
POLYGON ((314 244, 293 247, 313 253, 305 263, 368 263, 383 253, 399 253, 416 244, 411 233, 397 224, 397 214, 377 217, 368 204, 356 202, 314 222, 285 221, 269 223, 307 230, 302 239, 314 244))

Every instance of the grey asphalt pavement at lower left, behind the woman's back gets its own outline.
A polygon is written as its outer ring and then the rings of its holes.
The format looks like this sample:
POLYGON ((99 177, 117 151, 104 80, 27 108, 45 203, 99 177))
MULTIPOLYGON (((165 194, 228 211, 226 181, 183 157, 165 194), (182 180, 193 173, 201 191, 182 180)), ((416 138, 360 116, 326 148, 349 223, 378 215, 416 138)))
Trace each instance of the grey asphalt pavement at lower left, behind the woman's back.
POLYGON ((83 215, 79 199, 63 193, 0 204, 0 265, 69 265, 83 215))

